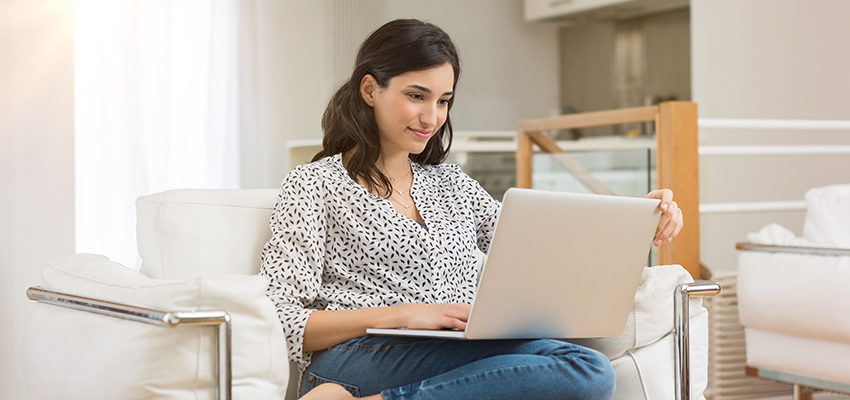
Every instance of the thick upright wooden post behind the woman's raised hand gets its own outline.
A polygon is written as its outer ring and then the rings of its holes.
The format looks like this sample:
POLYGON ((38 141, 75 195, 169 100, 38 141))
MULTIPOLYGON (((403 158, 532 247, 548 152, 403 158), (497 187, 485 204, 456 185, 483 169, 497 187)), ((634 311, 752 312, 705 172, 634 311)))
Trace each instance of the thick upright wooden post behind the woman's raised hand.
POLYGON ((655 124, 658 187, 673 191, 685 221, 679 236, 659 248, 658 262, 681 264, 694 279, 700 279, 697 105, 661 103, 655 124))

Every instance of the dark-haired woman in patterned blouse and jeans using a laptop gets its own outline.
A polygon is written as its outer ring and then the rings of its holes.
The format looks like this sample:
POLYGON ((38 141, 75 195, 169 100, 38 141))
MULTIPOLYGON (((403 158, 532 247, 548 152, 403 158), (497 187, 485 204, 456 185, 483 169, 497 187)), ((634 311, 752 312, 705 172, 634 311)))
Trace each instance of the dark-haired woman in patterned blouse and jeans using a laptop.
MULTIPOLYGON (((460 75, 445 32, 396 20, 360 48, 322 119, 324 149, 281 185, 269 278, 304 399, 606 399, 600 353, 556 340, 366 336, 464 329, 500 204, 457 166, 449 110, 460 75)), ((656 244, 681 229, 669 190, 656 244)))

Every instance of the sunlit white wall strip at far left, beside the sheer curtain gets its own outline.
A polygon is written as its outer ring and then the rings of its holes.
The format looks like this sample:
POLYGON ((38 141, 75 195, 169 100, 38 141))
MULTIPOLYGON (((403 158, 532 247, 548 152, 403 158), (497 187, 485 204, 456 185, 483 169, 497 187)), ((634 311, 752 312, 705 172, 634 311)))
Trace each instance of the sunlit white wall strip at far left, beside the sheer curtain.
POLYGON ((26 399, 18 347, 42 262, 74 251, 73 2, 0 0, 0 398, 26 399))

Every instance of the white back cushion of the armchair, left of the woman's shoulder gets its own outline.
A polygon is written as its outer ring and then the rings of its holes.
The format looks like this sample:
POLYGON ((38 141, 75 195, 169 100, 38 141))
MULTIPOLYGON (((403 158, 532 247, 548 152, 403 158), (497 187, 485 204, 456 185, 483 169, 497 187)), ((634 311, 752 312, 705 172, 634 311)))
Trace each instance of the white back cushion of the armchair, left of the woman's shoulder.
POLYGON ((151 278, 252 275, 271 236, 277 189, 178 189, 136 200, 141 272, 151 278))

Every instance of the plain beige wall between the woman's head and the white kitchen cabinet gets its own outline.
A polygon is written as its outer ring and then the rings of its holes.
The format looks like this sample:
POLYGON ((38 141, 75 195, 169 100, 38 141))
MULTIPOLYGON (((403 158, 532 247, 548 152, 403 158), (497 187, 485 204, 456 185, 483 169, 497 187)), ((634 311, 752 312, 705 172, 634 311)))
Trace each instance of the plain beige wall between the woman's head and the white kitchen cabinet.
POLYGON ((387 0, 385 18, 419 18, 445 30, 462 74, 458 130, 513 130, 524 118, 559 114, 557 27, 525 22, 520 0, 387 0))

